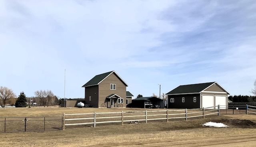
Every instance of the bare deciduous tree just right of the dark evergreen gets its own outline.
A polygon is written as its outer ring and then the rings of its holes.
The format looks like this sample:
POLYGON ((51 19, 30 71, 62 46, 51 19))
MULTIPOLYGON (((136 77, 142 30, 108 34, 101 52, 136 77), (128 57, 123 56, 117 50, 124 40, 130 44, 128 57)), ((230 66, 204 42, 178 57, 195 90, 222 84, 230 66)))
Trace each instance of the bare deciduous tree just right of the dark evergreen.
POLYGON ((40 99, 44 107, 48 107, 51 104, 52 98, 54 97, 54 94, 50 90, 36 91, 35 95, 40 99))

